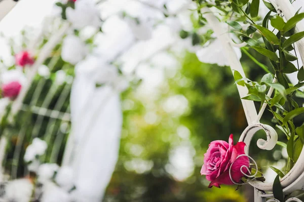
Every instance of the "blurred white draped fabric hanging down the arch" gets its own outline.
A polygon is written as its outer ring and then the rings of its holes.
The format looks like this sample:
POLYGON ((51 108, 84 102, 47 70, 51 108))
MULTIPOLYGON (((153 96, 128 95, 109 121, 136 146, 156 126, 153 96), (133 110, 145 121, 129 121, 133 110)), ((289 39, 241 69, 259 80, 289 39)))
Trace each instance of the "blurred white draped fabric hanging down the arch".
POLYGON ((115 68, 105 65, 96 58, 80 63, 70 98, 72 134, 77 145, 83 145, 72 158, 75 186, 84 201, 92 202, 102 199, 115 169, 122 127, 119 93, 107 85, 96 88, 98 77, 90 77, 115 68))

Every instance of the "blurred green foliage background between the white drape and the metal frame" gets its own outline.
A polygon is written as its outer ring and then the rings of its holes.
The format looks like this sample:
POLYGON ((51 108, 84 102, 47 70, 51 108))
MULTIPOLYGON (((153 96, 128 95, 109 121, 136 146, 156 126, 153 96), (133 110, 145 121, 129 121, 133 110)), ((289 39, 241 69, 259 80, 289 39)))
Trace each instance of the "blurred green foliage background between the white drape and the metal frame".
MULTIPOLYGON (((269 65, 262 56, 255 56, 269 65)), ((123 107, 126 101, 132 103, 132 107, 124 111, 119 163, 104 201, 246 201, 243 194, 247 189, 252 189, 250 186, 238 191, 235 191, 235 186, 224 185, 221 189, 209 189, 209 182, 200 175, 208 144, 218 139, 227 141, 232 133, 237 142, 247 126, 231 70, 203 64, 191 53, 187 53, 181 63, 175 76, 159 87, 157 98, 148 96, 143 100, 132 90, 124 93, 123 107), (164 110, 164 102, 175 95, 187 99, 188 106, 182 114, 164 110), (149 124, 145 117, 151 111, 157 118, 149 124), (186 127, 190 135, 181 136, 180 127, 186 127), (179 181, 168 169, 170 155, 176 146, 188 142, 195 150, 195 169, 186 179, 179 181), (132 152, 134 146, 139 146, 141 152, 132 152), (153 166, 141 170, 141 161, 153 166), (129 168, 130 162, 134 164, 133 169, 129 168)), ((264 74, 247 56, 243 56, 242 63, 248 77, 258 79, 264 74)), ((264 118, 270 120, 271 113, 266 111, 264 118)), ((270 122, 263 123, 272 125, 270 122)), ((257 138, 264 137, 263 134, 257 136, 252 145, 257 138)), ((284 138, 281 133, 279 136, 284 138)), ((260 155, 260 149, 256 146, 252 149, 252 156, 258 162, 263 158, 274 160, 272 152, 262 152, 260 155)))

